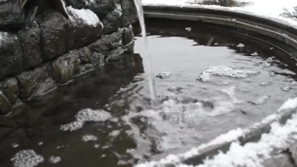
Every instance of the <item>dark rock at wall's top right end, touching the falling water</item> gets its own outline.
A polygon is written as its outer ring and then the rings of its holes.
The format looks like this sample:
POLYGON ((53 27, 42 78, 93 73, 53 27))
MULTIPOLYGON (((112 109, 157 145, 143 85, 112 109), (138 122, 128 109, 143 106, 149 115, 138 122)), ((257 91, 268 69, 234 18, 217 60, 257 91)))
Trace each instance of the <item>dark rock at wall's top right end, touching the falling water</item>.
POLYGON ((132 24, 137 21, 137 10, 134 0, 121 0, 122 5, 122 27, 132 24))

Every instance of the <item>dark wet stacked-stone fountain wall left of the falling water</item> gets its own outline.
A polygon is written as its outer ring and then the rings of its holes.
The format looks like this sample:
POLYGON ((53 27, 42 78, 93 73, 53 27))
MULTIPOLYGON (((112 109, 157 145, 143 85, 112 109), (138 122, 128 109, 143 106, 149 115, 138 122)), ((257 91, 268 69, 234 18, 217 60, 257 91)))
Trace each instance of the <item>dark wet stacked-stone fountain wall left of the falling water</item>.
MULTIPOLYGON (((0 24, 11 19, 10 2, 0 1, 0 24)), ((66 0, 65 4, 69 19, 49 10, 30 27, 0 26, 0 115, 133 52, 130 24, 137 21, 133 0, 66 0)))

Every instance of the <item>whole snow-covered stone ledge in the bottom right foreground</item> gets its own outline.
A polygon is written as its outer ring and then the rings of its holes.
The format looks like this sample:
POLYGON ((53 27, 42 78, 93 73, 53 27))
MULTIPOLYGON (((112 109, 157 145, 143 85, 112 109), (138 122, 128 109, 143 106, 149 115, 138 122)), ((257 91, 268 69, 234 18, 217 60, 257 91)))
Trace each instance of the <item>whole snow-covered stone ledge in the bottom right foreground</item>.
MULTIPOLYGON (((188 152, 136 167, 262 167, 275 152, 281 154, 290 146, 297 151, 296 112, 297 98, 289 99, 260 123, 231 130, 188 152)), ((297 160, 295 156, 290 158, 297 160)))

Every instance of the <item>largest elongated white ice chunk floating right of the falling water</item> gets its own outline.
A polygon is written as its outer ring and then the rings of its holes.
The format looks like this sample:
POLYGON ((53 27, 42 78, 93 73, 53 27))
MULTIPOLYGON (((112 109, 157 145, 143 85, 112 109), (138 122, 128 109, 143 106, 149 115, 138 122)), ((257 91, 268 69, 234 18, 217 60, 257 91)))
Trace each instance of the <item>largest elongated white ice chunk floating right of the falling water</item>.
POLYGON ((252 70, 237 70, 225 66, 212 66, 204 71, 197 79, 198 81, 207 82, 211 80, 212 75, 224 76, 230 78, 248 78, 250 75, 258 74, 256 71, 252 70))

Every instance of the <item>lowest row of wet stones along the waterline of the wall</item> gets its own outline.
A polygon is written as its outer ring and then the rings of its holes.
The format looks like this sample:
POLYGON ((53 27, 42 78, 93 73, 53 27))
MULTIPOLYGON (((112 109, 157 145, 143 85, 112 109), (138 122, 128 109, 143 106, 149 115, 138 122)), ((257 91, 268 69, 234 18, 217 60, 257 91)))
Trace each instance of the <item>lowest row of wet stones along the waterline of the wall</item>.
POLYGON ((69 84, 80 75, 104 67, 108 61, 119 59, 122 53, 133 53, 133 27, 119 28, 102 35, 85 47, 72 49, 62 56, 0 81, 0 116, 8 116, 32 97, 40 97, 55 90, 58 85, 69 84))

